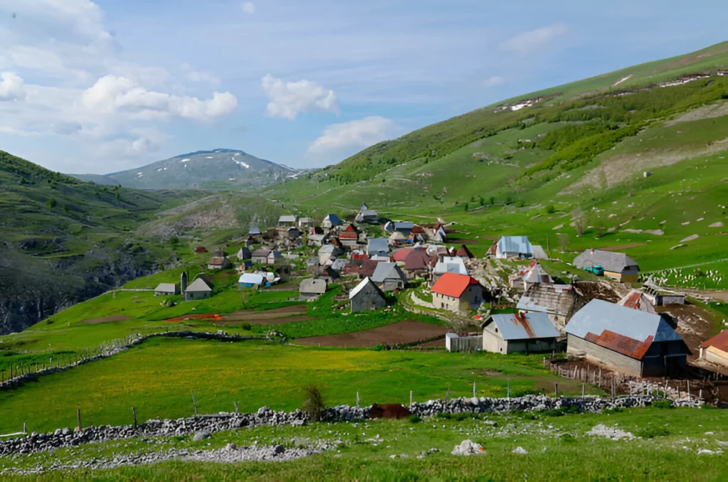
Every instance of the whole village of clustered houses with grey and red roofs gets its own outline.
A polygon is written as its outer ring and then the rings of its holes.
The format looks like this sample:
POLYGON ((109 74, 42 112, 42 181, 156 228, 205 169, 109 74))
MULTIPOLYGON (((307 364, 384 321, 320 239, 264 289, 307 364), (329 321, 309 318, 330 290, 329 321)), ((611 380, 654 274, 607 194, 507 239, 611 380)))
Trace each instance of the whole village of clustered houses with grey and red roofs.
MULTIPOLYGON (((251 226, 236 263, 220 250, 207 269, 237 266, 240 290, 264 290, 303 277, 301 301, 315 300, 337 283, 341 299, 348 297, 347 314, 383 309, 403 301, 385 293, 403 293, 408 309, 467 326, 446 335, 450 351, 568 352, 636 376, 670 376, 687 366, 690 349, 676 331, 678 320, 655 309, 685 304, 684 293, 645 283, 617 303, 585 296, 580 283, 586 282, 571 275, 567 283, 554 280, 539 262, 547 258, 545 250, 525 236, 500 237, 488 249, 486 263, 521 264, 499 286, 493 277, 486 280, 483 260, 466 244, 447 246, 454 224, 393 221, 367 205, 349 218, 332 213, 317 222, 288 215, 265 231, 251 226), (505 291, 517 293, 515 303, 502 303, 505 291)), ((637 283, 640 272, 630 256, 607 250, 587 249, 572 264, 622 287, 637 283)), ((182 294, 190 301, 212 296, 213 287, 204 275, 188 285, 183 273, 179 285, 162 283, 156 294, 182 294)), ((700 358, 728 366, 728 331, 700 345, 700 358)))

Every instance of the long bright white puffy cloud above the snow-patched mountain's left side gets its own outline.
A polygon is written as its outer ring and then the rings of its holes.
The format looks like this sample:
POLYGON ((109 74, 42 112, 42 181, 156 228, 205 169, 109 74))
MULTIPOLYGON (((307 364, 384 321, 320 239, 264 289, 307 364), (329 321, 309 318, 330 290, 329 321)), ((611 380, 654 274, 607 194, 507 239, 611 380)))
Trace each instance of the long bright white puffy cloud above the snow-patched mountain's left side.
POLYGON ((209 121, 237 109, 237 98, 230 92, 214 92, 212 99, 199 100, 146 90, 126 77, 113 75, 98 79, 93 87, 84 91, 82 101, 92 111, 129 111, 146 119, 178 116, 209 121))

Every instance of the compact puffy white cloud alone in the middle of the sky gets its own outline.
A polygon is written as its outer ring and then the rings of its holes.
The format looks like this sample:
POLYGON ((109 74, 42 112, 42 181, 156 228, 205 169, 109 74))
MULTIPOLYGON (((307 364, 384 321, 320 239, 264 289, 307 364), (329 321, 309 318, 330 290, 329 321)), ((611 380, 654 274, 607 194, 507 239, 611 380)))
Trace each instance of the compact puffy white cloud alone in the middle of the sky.
POLYGON ((272 117, 296 119, 302 112, 339 113, 339 98, 333 90, 325 90, 316 82, 285 82, 267 74, 261 79, 268 97, 267 113, 272 117))

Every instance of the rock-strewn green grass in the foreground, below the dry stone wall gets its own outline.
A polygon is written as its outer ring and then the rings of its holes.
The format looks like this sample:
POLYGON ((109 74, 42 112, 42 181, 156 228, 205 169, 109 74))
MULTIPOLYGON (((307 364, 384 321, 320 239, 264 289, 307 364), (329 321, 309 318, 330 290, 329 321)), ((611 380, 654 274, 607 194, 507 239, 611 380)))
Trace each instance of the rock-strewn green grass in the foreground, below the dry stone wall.
MULTIPOLYGON (((94 480, 681 480, 718 481, 728 476, 717 440, 727 437, 718 410, 641 408, 611 414, 546 416, 485 415, 496 426, 474 419, 369 420, 355 424, 305 427, 256 427, 221 432, 201 442, 191 437, 163 438, 158 450, 222 449, 227 443, 251 446, 282 443, 290 448, 307 440, 339 443, 339 448, 293 462, 236 464, 162 462, 114 470, 66 470, 46 477, 94 480), (640 437, 609 440, 587 435, 597 424, 640 437), (711 433, 712 432, 712 435, 711 433), (480 443, 486 454, 454 457, 464 439, 480 443), (338 441, 338 442, 337 442, 338 441), (527 454, 514 454, 522 447, 527 454), (418 459, 423 451, 439 453, 418 459), (405 457, 403 457, 406 456, 405 457)), ((151 451, 147 440, 122 440, 58 449, 54 454, 0 458, 0 467, 67 464, 105 459, 118 453, 151 451)))

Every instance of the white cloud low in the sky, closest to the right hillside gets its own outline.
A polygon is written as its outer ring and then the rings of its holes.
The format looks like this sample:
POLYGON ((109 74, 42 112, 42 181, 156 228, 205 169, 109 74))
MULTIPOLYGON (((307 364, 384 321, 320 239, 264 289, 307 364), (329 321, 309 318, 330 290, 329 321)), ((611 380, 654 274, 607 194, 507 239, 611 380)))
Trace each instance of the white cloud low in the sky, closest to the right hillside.
POLYGON ((311 143, 308 157, 331 159, 352 149, 363 149, 402 133, 402 128, 391 119, 369 116, 364 119, 332 124, 311 143))

